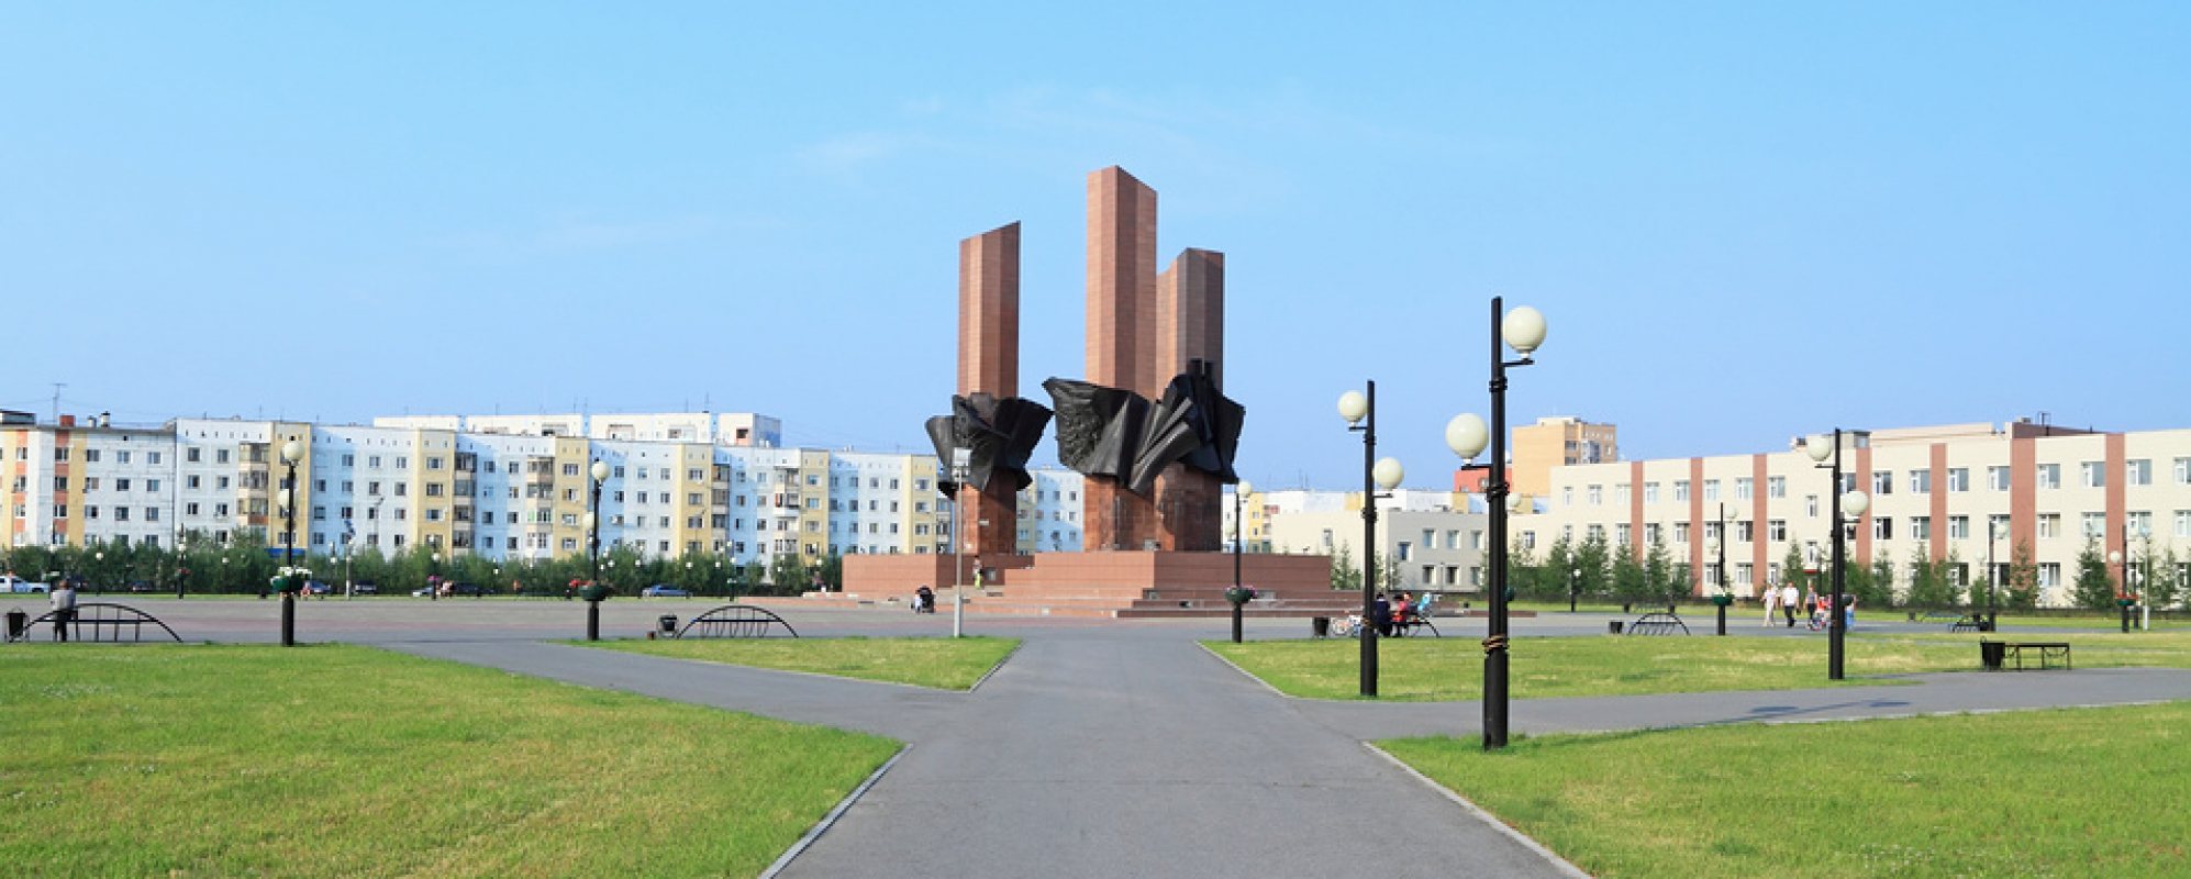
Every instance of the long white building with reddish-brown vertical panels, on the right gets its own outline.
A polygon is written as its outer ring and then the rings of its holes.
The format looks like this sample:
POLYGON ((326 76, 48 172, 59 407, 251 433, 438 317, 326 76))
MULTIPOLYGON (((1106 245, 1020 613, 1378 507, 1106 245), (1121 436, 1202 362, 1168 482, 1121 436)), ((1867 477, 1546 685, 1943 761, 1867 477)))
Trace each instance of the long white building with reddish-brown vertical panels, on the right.
MULTIPOLYGON (((1829 555, 1832 476, 1803 441, 1792 445, 1558 467, 1547 513, 1516 517, 1512 533, 1534 548, 1597 537, 1641 555, 1665 544, 1702 590, 1718 574, 1707 548, 1724 520, 1727 581, 1755 596, 1783 574, 1790 546, 1808 566, 1829 555)), ((1843 473, 1843 489, 1869 495, 1845 530, 1849 559, 1891 561, 1897 590, 1915 559, 1948 561, 1959 583, 1983 581, 1992 559, 1994 581, 2007 583, 2027 548, 2040 603, 2064 605, 2088 539, 2101 552, 2127 541, 2132 559, 2191 550, 2191 430, 2099 434, 2029 421, 1875 430, 1847 434, 1843 473)))

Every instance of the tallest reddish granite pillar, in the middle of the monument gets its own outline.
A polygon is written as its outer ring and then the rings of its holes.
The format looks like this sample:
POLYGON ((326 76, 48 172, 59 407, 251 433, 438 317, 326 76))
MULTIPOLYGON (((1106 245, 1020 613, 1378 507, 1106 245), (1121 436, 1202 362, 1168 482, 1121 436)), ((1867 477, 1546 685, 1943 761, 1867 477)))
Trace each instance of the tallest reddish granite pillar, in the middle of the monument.
MULTIPOLYGON (((1087 379, 1163 395, 1157 357, 1157 191, 1120 167, 1089 173, 1087 379)), ((1139 550, 1157 539, 1157 506, 1109 480, 1080 491, 1082 546, 1139 550)))

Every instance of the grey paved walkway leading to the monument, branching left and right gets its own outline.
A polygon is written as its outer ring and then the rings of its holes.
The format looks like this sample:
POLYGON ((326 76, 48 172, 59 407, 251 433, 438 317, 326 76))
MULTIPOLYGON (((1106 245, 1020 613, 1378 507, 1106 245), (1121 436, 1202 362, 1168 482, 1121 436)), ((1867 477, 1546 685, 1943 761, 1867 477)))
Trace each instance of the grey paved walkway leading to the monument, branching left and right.
MULTIPOLYGON (((1181 627, 1025 631, 975 693, 581 647, 403 651, 903 739, 789 877, 1573 875, 1361 743, 1479 734, 1481 704, 1286 699, 1181 627), (1424 842, 1435 840, 1435 846, 1424 842)), ((1915 686, 1523 699, 1514 732, 1823 721, 2191 699, 2191 671, 1915 675, 1915 686)))

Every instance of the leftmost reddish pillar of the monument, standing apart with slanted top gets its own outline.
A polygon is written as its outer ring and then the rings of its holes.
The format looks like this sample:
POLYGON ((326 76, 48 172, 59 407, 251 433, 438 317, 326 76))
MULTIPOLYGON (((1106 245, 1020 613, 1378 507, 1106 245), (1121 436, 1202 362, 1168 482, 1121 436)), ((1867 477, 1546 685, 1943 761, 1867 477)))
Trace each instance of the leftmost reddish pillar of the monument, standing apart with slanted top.
MULTIPOLYGON (((960 241, 960 375, 957 392, 1019 397, 1019 224, 960 241)), ((988 489, 960 489, 964 522, 953 524, 966 555, 1019 552, 1019 491, 993 478, 988 489)))

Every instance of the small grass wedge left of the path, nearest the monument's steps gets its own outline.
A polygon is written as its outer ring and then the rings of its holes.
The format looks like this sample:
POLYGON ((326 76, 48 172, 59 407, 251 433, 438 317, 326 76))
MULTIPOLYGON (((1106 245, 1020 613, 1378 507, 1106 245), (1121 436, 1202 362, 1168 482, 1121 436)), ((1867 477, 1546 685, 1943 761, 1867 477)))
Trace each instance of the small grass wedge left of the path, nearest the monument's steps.
POLYGON ((1019 638, 677 638, 574 644, 964 690, 1003 662, 1019 638))

